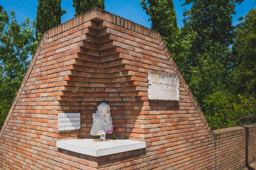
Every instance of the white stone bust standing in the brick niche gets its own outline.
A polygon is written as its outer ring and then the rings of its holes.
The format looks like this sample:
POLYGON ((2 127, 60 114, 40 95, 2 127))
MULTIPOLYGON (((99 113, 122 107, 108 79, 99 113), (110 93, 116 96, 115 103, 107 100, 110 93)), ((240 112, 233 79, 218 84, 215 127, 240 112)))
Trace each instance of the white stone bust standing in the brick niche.
POLYGON ((98 111, 93 113, 93 125, 92 129, 90 129, 90 134, 97 136, 100 130, 108 133, 108 130, 111 130, 111 126, 113 126, 113 122, 112 117, 110 117, 110 107, 106 103, 101 103, 98 105, 98 111))

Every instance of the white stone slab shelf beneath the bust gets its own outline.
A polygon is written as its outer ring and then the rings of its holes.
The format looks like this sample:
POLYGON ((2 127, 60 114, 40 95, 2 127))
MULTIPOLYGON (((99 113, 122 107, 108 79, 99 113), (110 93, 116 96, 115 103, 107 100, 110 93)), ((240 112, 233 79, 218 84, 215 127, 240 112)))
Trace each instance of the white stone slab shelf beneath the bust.
POLYGON ((105 156, 146 148, 146 142, 128 139, 98 141, 98 139, 69 139, 57 141, 57 147, 90 156, 105 156))

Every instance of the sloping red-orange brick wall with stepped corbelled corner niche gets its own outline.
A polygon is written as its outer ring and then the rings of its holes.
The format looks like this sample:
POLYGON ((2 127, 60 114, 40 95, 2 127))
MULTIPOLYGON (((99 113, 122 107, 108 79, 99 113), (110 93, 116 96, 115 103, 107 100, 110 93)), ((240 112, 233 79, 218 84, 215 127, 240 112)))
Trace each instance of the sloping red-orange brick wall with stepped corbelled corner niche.
POLYGON ((44 33, 0 131, 0 168, 239 169, 256 158, 255 135, 255 125, 213 132, 159 33, 94 8, 44 33), (145 148, 93 156, 57 147, 96 140, 102 102, 118 142, 145 148), (80 129, 59 131, 59 113, 80 113, 80 129))

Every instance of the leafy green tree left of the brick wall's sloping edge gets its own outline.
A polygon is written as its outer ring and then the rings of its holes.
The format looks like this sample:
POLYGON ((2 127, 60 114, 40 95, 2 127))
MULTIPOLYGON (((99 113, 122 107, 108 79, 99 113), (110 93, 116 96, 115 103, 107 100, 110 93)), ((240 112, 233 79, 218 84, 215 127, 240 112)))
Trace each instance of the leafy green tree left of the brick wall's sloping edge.
POLYGON ((25 18, 17 24, 14 11, 8 15, 0 6, 0 127, 30 64, 27 58, 38 46, 34 29, 35 22, 25 18))

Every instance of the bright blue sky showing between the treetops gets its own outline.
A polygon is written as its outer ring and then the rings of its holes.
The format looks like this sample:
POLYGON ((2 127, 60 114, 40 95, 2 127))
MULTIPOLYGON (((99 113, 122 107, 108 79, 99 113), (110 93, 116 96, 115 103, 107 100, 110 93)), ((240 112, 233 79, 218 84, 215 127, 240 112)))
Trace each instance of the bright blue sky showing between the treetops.
MULTIPOLYGON (((184 1, 174 0, 174 6, 177 15, 177 24, 183 26, 183 8, 180 5, 184 1)), ((255 0, 245 0, 240 6, 236 7, 237 14, 233 16, 233 24, 236 25, 240 16, 245 16, 251 8, 253 8, 255 0)), ((61 23, 72 19, 75 14, 75 8, 72 7, 72 0, 62 0, 61 8, 67 11, 61 18, 61 23)), ((0 0, 0 5, 10 14, 10 10, 14 10, 18 23, 24 21, 25 17, 35 20, 36 10, 38 6, 37 0, 0 0)), ((188 7, 187 7, 188 8, 188 7)), ((254 7, 256 8, 256 6, 254 7)), ((142 10, 138 0, 105 0, 105 10, 129 19, 135 23, 150 28, 151 23, 148 22, 148 16, 142 10)))

